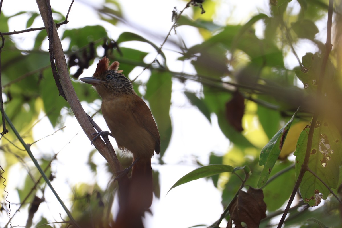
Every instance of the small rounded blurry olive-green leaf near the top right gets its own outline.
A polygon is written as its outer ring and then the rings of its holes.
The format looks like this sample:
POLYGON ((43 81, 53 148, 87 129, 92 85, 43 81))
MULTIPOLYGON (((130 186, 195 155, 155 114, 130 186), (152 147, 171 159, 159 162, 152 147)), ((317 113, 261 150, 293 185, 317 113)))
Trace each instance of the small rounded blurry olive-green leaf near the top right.
POLYGON ((315 23, 308 19, 292 23, 292 29, 299 38, 306 38, 309 40, 313 40, 315 35, 319 32, 315 23))

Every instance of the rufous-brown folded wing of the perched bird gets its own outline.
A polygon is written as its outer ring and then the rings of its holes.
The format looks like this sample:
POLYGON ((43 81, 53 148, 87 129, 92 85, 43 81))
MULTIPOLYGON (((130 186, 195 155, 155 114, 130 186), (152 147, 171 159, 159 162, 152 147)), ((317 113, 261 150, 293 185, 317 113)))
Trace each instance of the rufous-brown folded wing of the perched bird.
POLYGON ((143 125, 144 128, 152 135, 153 139, 156 141, 155 151, 159 155, 160 136, 156 122, 152 117, 151 111, 149 110, 146 103, 140 97, 139 99, 135 99, 135 105, 133 107, 133 116, 135 120, 141 125, 143 125), (141 115, 141 113, 145 113, 145 115, 141 115))

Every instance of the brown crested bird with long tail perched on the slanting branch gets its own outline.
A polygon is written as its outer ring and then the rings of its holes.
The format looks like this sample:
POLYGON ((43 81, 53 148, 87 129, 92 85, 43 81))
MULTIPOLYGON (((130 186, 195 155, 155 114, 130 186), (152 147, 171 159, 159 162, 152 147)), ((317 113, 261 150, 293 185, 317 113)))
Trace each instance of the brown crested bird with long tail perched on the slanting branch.
POLYGON ((160 135, 152 113, 133 89, 133 84, 119 62, 109 65, 104 56, 98 62, 93 77, 80 81, 93 85, 102 98, 101 110, 118 148, 133 155, 129 192, 130 210, 143 211, 152 205, 153 177, 151 159, 160 152, 160 135))

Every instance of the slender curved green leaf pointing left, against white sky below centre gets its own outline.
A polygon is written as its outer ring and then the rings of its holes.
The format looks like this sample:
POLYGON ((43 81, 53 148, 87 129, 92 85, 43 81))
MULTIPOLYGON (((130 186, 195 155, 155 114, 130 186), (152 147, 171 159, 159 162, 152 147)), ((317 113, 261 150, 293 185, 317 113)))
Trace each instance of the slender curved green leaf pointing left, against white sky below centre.
POLYGON ((202 166, 191 171, 190 173, 184 175, 182 178, 177 180, 177 182, 170 188, 170 190, 182 184, 188 183, 192 180, 197 180, 199 178, 209 177, 212 175, 225 173, 225 172, 233 172, 233 171, 234 171, 234 168, 233 166, 230 166, 230 165, 215 164, 215 165, 202 166))

